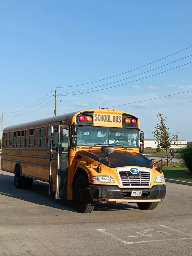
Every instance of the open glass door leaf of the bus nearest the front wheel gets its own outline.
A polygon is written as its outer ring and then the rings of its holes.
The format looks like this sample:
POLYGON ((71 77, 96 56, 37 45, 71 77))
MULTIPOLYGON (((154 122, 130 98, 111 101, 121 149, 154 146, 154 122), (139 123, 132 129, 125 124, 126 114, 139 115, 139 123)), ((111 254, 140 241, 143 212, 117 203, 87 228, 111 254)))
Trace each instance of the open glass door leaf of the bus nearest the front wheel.
POLYGON ((69 126, 59 125, 57 147, 57 176, 55 198, 67 198, 69 126))

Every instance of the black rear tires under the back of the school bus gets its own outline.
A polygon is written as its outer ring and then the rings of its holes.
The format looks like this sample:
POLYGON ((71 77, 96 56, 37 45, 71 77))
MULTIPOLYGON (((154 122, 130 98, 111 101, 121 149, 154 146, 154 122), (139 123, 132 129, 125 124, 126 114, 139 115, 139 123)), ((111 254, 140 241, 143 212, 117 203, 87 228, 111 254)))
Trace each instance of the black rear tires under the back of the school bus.
POLYGON ((15 169, 14 184, 15 184, 15 187, 18 189, 23 189, 23 188, 30 189, 33 185, 33 179, 20 176, 20 168, 19 166, 17 166, 15 169))

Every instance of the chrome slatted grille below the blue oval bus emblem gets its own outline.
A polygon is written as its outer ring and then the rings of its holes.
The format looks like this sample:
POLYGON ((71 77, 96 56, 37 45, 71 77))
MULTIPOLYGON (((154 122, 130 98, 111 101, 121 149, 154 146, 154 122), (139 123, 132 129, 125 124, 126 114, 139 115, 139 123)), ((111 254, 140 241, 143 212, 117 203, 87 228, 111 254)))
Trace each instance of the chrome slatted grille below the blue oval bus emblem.
POLYGON ((130 171, 118 171, 121 185, 123 187, 148 187, 150 186, 150 171, 139 171, 133 174, 130 171))

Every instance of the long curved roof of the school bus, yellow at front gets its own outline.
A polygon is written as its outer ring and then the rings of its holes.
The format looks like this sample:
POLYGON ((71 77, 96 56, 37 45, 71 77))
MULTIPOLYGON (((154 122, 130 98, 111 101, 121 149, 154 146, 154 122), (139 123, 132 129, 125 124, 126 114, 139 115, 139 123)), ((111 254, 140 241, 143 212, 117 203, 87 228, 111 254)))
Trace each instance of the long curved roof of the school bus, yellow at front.
MULTIPOLYGON (((66 114, 63 114, 63 115, 53 116, 53 117, 50 117, 50 118, 40 119, 40 120, 36 120, 36 121, 32 121, 32 122, 7 126, 3 131, 17 130, 17 129, 21 130, 21 129, 25 129, 25 128, 35 128, 35 127, 39 127, 39 126, 47 126, 47 125, 54 125, 54 124, 56 125, 56 124, 59 124, 61 120, 66 121, 65 123, 63 123, 63 125, 65 125, 65 124, 69 125, 71 123, 71 120, 72 120, 73 116, 76 116, 78 113, 89 112, 89 111, 97 111, 98 112, 98 111, 102 111, 102 110, 103 111, 106 110, 106 112, 114 111, 114 110, 111 110, 111 109, 81 110, 81 111, 76 111, 76 112, 72 112, 72 113, 66 113, 66 114)), ((119 110, 115 110, 115 112, 116 113, 130 114, 130 113, 127 113, 125 111, 119 111, 119 110)))

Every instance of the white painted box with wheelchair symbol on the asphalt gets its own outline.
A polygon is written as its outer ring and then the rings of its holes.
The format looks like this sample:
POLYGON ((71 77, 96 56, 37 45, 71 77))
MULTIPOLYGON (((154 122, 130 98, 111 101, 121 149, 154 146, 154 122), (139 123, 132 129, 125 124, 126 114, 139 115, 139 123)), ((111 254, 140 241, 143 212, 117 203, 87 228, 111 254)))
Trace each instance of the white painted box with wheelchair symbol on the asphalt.
MULTIPOLYGON (((154 227, 154 226, 153 226, 154 227)), ((177 229, 174 229, 174 228, 170 228, 170 227, 167 227, 165 225, 158 225, 158 226, 155 226, 155 227, 163 227, 163 228, 167 228, 169 230, 173 230, 173 231, 176 231, 178 233, 183 233, 185 235, 190 235, 192 236, 191 234, 188 234, 188 233, 185 233, 183 231, 180 231, 180 230, 177 230, 177 229)), ((132 227, 132 228, 139 228, 139 227, 132 227)), ((147 228, 147 227, 143 227, 143 228, 147 228)), ((122 240, 121 238, 119 237, 116 237, 114 236, 113 234, 110 234, 108 232, 106 232, 105 230, 111 230, 111 229, 130 229, 130 228, 109 228, 109 229, 97 229, 98 231, 100 231, 101 233, 104 233, 110 237, 113 237, 114 239, 124 243, 124 244, 137 244, 137 243, 148 243, 148 242, 160 242, 160 241, 168 241, 168 240, 190 240, 192 239, 192 237, 186 237, 186 238, 169 238, 169 239, 157 239, 157 240, 146 240, 146 241, 135 241, 135 242, 127 242, 127 241, 124 241, 122 240)), ((147 233, 146 231, 151 231, 151 230, 154 230, 154 229, 150 229, 148 228, 147 230, 143 230, 143 231, 140 231, 140 232, 136 232, 138 234, 140 234, 140 236, 127 236, 127 237, 130 237, 130 238, 136 238, 136 237, 151 237, 153 238, 154 236, 152 234, 149 234, 147 233), (142 232, 142 233, 141 233, 142 232)), ((170 234, 168 232, 164 232, 164 231, 156 231, 156 232, 160 232, 160 233, 165 233, 167 234, 167 237, 170 236, 170 234)))

